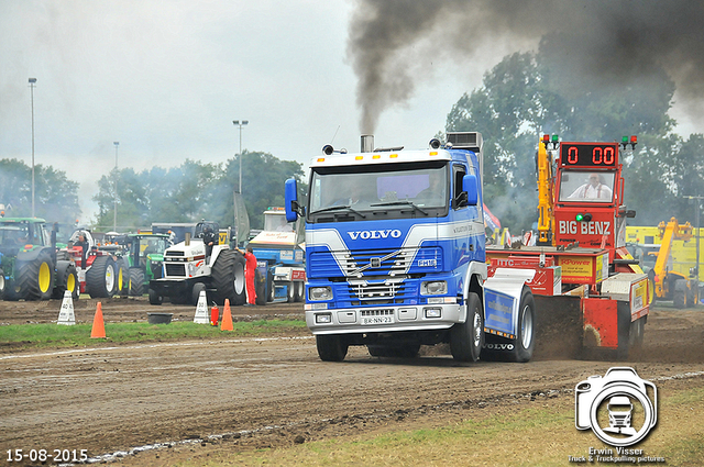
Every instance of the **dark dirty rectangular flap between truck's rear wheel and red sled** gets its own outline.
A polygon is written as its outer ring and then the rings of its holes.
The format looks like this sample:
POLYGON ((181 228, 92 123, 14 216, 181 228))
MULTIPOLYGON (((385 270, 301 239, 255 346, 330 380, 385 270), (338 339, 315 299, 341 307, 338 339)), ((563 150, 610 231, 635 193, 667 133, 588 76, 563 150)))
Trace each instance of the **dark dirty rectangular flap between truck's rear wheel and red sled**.
POLYGON ((582 353, 582 298, 534 296, 536 349, 534 359, 575 359, 582 353))

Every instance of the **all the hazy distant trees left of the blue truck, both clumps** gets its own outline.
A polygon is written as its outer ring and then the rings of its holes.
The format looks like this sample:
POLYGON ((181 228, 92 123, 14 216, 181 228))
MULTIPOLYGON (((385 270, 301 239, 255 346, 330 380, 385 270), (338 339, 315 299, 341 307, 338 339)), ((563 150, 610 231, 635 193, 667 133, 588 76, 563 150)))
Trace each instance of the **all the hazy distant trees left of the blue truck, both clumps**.
MULTIPOLYGON (((74 223, 80 218, 78 182, 52 167, 35 166, 35 215, 51 222, 74 223)), ((300 181, 301 164, 280 160, 268 153, 244 151, 223 164, 187 159, 179 167, 112 169, 98 180, 98 213, 89 223, 112 230, 117 199, 118 230, 134 231, 152 222, 216 221, 234 226, 234 192, 241 192, 252 229, 263 227, 263 212, 284 205, 284 182, 300 181), (242 189, 240 191, 240 157, 242 189), (116 193, 117 187, 117 193, 116 193), (116 196, 117 194, 117 196, 116 196)), ((7 215, 31 215, 31 167, 16 159, 0 159, 0 203, 10 204, 7 215)), ((305 190, 305 184, 301 185, 305 190)))

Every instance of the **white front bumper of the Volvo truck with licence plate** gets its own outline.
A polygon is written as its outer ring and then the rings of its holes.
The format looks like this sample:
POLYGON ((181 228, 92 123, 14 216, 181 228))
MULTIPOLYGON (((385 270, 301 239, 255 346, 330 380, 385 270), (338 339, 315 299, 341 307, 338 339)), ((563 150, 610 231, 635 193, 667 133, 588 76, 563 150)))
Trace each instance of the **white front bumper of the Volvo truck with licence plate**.
POLYGON ((465 320, 464 308, 458 303, 331 310, 309 310, 308 307, 306 324, 315 335, 446 330, 465 320))

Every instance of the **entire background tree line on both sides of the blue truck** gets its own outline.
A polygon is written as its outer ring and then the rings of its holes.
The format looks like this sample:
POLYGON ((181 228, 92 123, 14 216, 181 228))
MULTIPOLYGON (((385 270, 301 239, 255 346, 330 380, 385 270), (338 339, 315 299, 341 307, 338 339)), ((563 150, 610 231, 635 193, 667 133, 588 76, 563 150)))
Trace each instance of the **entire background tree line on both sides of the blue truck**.
MULTIPOLYGON (((618 82, 563 66, 560 54, 559 37, 553 37, 543 40, 536 53, 504 57, 485 74, 482 86, 463 94, 448 113, 446 131, 479 131, 484 136, 484 201, 492 212, 512 230, 531 229, 538 203, 535 155, 542 134, 600 142, 637 135, 636 151, 622 160, 625 201, 637 212, 629 222, 693 220, 696 205, 685 197, 704 194, 704 136, 683 138, 673 132, 676 122, 668 111, 675 86, 664 70, 618 82)), ((233 225, 240 157, 251 226, 261 229, 262 212, 284 203, 284 181, 305 181, 304 173, 299 163, 246 151, 223 164, 189 159, 170 169, 113 169, 98 182, 92 200, 99 212, 92 224, 112 226, 117 199, 123 230, 200 219, 233 225)), ((35 180, 37 216, 58 222, 79 216, 77 182, 41 165, 35 180)), ((20 160, 0 160, 0 203, 11 204, 12 215, 30 215, 31 168, 20 160)))

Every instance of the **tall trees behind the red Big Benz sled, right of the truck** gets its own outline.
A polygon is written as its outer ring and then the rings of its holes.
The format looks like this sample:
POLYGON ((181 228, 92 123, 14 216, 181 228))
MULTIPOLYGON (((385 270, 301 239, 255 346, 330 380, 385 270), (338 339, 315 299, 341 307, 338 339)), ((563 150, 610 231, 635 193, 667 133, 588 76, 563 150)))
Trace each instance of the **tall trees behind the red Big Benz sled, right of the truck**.
POLYGON ((448 114, 447 131, 480 131, 485 138, 484 201, 492 212, 514 230, 537 220, 535 154, 541 134, 563 141, 635 134, 639 145, 623 160, 626 203, 637 211, 631 223, 691 219, 693 208, 682 197, 704 191, 704 140, 672 133, 672 80, 661 69, 626 81, 584 74, 563 64, 559 44, 559 36, 548 36, 538 53, 505 57, 448 114))

